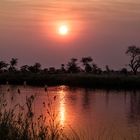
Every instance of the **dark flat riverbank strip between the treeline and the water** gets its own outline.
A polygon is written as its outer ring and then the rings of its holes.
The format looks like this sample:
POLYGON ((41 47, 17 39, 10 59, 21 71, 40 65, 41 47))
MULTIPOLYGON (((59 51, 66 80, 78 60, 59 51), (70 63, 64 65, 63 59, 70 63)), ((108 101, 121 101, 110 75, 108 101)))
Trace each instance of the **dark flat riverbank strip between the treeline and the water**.
POLYGON ((140 76, 94 75, 94 74, 42 74, 2 73, 0 84, 22 85, 26 81, 32 86, 68 85, 103 89, 140 89, 140 76))

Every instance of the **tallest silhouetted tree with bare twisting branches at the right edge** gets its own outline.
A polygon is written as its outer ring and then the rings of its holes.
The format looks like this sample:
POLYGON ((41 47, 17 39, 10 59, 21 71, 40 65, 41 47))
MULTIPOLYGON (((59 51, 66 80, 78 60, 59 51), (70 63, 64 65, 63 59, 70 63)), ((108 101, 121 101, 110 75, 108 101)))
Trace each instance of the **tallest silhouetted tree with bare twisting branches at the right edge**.
POLYGON ((138 69, 140 68, 140 48, 137 46, 129 46, 127 48, 126 54, 130 56, 129 67, 136 75, 138 69))

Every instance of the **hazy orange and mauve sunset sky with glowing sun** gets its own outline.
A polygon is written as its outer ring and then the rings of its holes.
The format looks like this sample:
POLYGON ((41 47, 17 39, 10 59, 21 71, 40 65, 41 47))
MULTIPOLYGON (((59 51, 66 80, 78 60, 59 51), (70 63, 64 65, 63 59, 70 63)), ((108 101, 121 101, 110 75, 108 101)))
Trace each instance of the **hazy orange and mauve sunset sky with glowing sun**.
POLYGON ((0 60, 59 67, 91 56, 119 69, 133 44, 140 46, 140 0, 0 0, 0 60))

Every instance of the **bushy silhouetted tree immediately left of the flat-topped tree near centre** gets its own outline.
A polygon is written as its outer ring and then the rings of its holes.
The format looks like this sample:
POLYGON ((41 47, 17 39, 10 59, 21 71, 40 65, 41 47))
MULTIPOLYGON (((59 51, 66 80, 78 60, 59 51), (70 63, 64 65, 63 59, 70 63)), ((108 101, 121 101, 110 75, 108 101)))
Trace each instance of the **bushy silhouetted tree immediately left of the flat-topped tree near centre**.
POLYGON ((68 72, 70 72, 70 73, 79 72, 79 67, 77 65, 77 59, 76 58, 72 58, 71 61, 68 62, 67 67, 68 67, 68 72))

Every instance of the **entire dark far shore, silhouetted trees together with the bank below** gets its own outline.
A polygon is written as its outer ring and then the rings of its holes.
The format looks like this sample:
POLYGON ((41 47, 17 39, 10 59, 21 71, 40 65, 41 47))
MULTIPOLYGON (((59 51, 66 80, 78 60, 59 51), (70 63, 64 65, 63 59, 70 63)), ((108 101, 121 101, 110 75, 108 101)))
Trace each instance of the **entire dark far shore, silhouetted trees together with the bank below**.
POLYGON ((99 68, 91 57, 80 61, 72 58, 61 67, 42 68, 40 63, 17 68, 18 59, 12 58, 9 63, 0 61, 0 84, 28 84, 38 86, 69 85, 90 88, 140 89, 140 48, 128 47, 126 54, 130 61, 120 70, 99 68), (81 64, 81 65, 80 65, 81 64))

